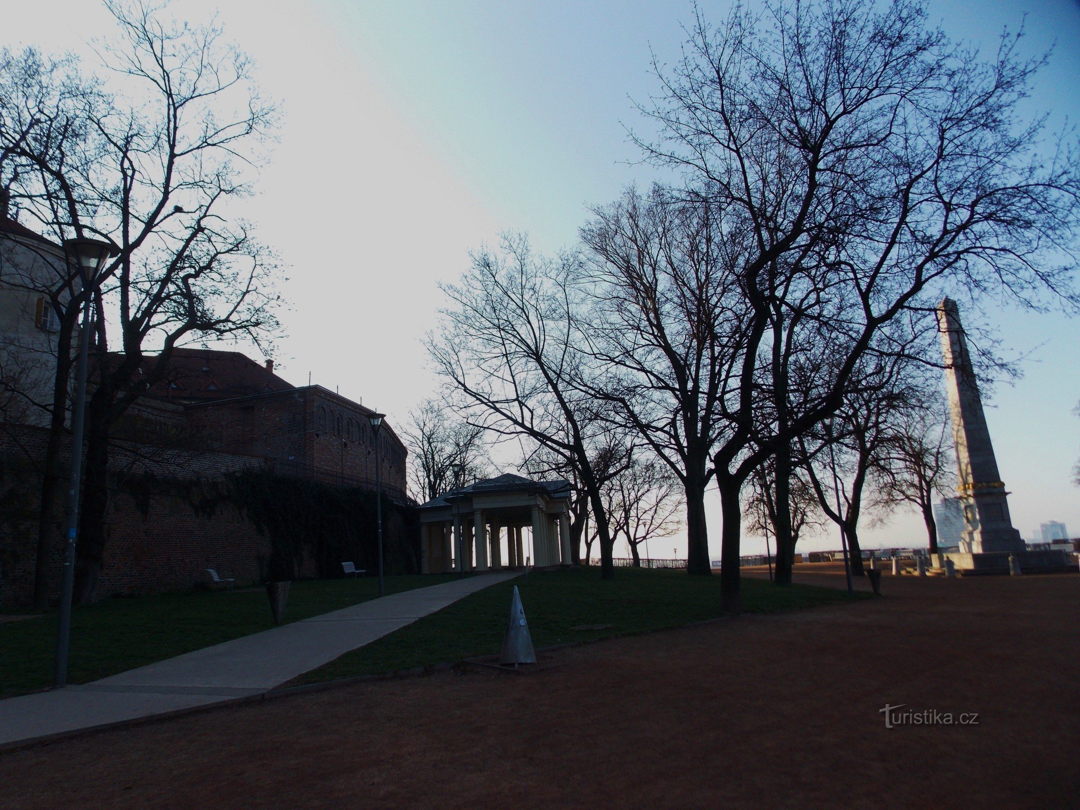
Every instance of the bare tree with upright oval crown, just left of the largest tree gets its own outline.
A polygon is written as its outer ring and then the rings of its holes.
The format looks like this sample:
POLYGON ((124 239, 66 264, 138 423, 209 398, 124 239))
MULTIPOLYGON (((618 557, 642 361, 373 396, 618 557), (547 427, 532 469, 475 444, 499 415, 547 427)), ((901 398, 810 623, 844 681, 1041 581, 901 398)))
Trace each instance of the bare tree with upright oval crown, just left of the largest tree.
POLYGON ((739 355, 743 296, 707 202, 659 188, 626 191, 582 228, 593 300, 589 350, 605 369, 590 390, 680 482, 690 573, 710 575, 705 488, 726 422, 720 405, 739 355))

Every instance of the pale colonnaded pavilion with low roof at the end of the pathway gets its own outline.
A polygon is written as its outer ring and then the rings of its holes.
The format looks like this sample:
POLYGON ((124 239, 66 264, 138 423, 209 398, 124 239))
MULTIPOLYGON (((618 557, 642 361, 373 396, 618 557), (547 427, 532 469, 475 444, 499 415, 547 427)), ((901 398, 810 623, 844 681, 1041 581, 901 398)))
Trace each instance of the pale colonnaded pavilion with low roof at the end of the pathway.
POLYGON ((420 570, 569 565, 569 505, 564 480, 504 473, 451 489, 420 505, 420 570))

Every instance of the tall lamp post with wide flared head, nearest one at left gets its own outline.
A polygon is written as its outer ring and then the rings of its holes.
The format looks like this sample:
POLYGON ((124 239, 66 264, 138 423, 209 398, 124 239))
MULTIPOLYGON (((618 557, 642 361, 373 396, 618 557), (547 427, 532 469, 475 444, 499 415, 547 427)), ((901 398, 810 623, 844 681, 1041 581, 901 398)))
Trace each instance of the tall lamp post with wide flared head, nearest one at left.
POLYGON ((85 297, 82 308, 82 333, 79 336, 79 364, 76 369, 75 406, 71 409, 71 473, 68 486, 67 523, 64 531, 64 573, 60 584, 60 615, 56 626, 56 662, 53 688, 67 686, 68 643, 71 638, 71 599, 75 592, 75 549, 79 529, 79 490, 82 483, 82 426, 86 409, 86 365, 90 356, 90 312, 93 288, 105 261, 120 249, 111 242, 96 239, 68 239, 64 252, 79 268, 85 297))

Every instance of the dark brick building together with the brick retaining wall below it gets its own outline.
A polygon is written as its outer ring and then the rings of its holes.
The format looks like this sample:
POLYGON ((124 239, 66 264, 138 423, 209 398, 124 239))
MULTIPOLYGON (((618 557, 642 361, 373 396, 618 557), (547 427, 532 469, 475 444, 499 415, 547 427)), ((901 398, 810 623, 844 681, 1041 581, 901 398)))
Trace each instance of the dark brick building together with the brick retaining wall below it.
MULTIPOLYGON (((190 588, 205 581, 210 567, 241 582, 264 577, 270 537, 228 499, 207 509, 215 482, 243 470, 268 470, 334 487, 374 489, 372 413, 320 386, 294 387, 271 364, 238 352, 179 350, 166 381, 117 426, 109 467, 119 483, 109 496, 98 596, 190 588)), ((0 423, 0 604, 27 604, 33 591, 46 433, 33 424, 0 423)), ((386 421, 380 441, 383 491, 407 504, 405 447, 386 421)), ((388 532, 409 531, 394 530, 402 518, 393 512, 383 515, 388 532)), ((57 519, 63 515, 59 503, 57 519)), ((54 596, 60 528, 57 524, 49 563, 54 596)), ((306 556, 300 573, 315 576, 315 561, 306 556)))

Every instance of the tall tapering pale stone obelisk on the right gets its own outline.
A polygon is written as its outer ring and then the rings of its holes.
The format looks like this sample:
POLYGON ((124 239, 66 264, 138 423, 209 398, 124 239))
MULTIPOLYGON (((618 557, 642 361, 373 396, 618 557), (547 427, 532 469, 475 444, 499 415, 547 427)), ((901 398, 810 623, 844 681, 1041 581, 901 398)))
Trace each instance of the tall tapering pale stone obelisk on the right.
POLYGON ((957 490, 963 504, 966 528, 960 535, 960 551, 968 554, 1024 551, 1024 540, 1009 517, 1009 494, 998 474, 960 314, 956 301, 949 298, 943 298, 937 305, 937 330, 945 356, 945 387, 959 480, 957 490))

